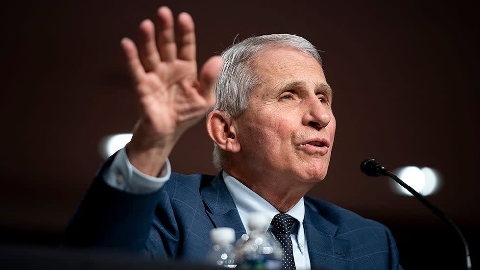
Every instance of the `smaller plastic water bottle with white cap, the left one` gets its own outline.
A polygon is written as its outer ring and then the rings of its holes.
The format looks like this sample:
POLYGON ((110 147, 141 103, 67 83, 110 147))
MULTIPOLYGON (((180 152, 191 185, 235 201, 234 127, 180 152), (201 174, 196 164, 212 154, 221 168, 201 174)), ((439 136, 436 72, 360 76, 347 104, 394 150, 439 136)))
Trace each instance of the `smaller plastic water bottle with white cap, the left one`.
POLYGON ((213 228, 210 231, 212 248, 206 256, 207 264, 216 267, 236 268, 235 231, 232 228, 213 228))

